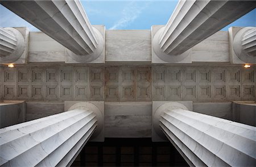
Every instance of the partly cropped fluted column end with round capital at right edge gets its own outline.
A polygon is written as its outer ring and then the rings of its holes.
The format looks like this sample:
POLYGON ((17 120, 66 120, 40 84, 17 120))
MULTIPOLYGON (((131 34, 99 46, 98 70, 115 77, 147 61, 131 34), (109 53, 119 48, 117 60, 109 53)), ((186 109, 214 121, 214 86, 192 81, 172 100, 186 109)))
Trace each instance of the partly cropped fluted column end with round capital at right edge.
POLYGON ((234 36, 233 49, 244 62, 256 63, 256 27, 242 28, 234 36))

